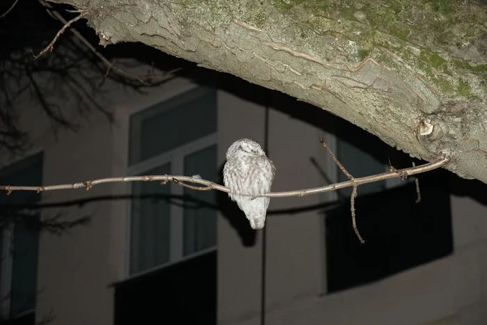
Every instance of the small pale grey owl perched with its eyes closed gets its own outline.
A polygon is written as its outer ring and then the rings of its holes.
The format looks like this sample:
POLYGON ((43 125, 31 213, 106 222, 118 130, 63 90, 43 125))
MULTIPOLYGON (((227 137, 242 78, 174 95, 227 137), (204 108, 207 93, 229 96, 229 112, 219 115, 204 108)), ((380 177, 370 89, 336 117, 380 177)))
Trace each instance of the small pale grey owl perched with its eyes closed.
POLYGON ((270 198, 255 198, 271 191, 274 180, 274 167, 271 159, 260 148, 259 143, 250 138, 235 141, 227 150, 227 163, 223 168, 223 182, 233 193, 247 194, 239 196, 228 194, 237 202, 245 213, 250 227, 260 229, 266 221, 267 207, 270 198))

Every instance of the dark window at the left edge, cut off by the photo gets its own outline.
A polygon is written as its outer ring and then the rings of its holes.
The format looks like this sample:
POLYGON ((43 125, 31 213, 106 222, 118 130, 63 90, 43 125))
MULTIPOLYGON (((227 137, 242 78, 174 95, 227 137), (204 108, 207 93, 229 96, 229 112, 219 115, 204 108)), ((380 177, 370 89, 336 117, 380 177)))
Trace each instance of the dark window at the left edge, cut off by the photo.
MULTIPOLYGON (((42 154, 0 171, 0 184, 41 183, 42 154)), ((0 311, 2 319, 12 319, 8 324, 34 324, 39 235, 35 219, 39 215, 29 213, 29 205, 39 199, 38 193, 29 191, 0 196, 0 311)))

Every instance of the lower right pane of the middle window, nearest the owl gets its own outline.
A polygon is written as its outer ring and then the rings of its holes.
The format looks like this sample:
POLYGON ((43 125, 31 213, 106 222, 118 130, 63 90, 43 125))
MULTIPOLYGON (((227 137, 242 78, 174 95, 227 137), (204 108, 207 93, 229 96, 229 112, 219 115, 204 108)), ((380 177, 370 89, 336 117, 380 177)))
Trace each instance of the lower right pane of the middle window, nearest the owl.
MULTIPOLYGON (((216 145, 184 159, 184 175, 197 174, 218 182, 216 145)), ((188 255, 216 245, 216 191, 184 188, 184 197, 193 199, 184 200, 184 255, 188 255)))

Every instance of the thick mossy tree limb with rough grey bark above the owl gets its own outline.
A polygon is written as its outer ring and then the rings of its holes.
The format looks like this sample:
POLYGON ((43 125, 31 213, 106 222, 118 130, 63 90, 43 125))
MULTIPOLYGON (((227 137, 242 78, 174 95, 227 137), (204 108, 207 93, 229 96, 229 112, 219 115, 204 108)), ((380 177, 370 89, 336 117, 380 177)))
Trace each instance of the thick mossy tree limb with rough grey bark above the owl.
POLYGON ((487 9, 456 0, 57 0, 102 45, 143 42, 330 111, 487 183, 487 9))

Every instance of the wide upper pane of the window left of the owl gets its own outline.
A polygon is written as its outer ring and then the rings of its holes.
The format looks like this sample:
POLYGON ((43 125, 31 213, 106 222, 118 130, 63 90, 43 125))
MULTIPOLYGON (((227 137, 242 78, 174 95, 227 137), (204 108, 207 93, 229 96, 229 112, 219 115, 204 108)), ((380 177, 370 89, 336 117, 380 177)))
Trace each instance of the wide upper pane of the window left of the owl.
POLYGON ((130 118, 130 164, 216 132, 216 90, 197 88, 130 118))

